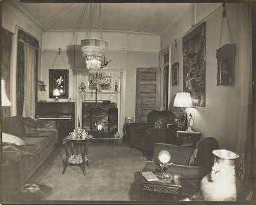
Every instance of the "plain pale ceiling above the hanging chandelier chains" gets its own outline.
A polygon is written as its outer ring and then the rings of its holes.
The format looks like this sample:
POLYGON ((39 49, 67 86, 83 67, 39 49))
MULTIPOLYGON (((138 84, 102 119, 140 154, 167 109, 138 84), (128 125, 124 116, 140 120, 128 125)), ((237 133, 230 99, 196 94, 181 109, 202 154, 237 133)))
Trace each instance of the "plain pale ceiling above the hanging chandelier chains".
MULTIPOLYGON (((21 3, 16 5, 27 11, 45 30, 77 29, 84 3, 21 3)), ((123 30, 161 34, 188 10, 192 3, 101 3, 102 30, 123 30)), ((88 4, 89 8, 89 4, 88 4)), ((88 27, 89 9, 80 29, 88 27)), ((99 29, 99 7, 92 24, 99 29)))

